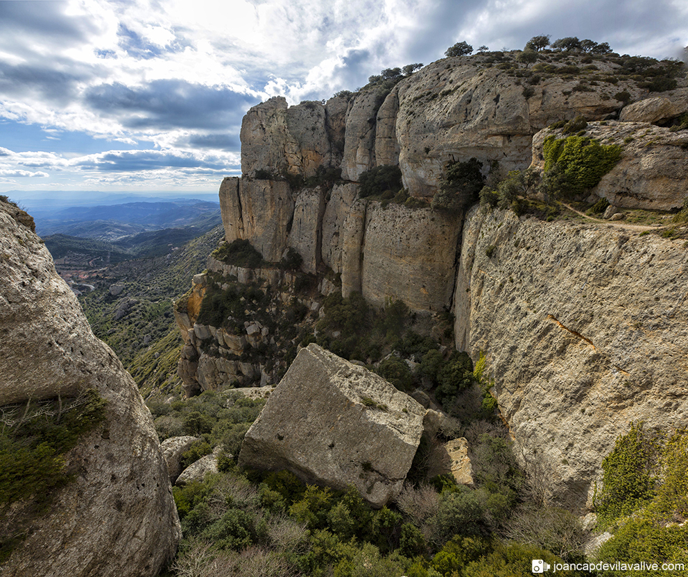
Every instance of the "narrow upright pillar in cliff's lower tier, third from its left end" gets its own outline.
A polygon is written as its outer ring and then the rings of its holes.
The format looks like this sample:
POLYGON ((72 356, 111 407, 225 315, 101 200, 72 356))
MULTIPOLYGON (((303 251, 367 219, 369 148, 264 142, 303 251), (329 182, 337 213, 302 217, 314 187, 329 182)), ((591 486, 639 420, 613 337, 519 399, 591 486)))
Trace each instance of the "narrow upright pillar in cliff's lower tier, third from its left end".
POLYGON ((320 187, 303 189, 298 193, 287 244, 301 255, 302 270, 311 274, 316 273, 320 264, 324 212, 325 191, 320 187))

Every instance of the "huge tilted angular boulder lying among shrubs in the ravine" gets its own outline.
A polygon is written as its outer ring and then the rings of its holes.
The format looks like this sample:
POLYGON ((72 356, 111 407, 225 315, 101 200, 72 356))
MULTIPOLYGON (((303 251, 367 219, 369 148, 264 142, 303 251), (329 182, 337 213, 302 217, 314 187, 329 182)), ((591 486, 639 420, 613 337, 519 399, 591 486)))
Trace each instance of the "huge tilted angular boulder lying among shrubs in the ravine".
POLYGON ((246 433, 239 465, 354 485, 381 507, 402 489, 426 413, 381 377, 311 344, 246 433))

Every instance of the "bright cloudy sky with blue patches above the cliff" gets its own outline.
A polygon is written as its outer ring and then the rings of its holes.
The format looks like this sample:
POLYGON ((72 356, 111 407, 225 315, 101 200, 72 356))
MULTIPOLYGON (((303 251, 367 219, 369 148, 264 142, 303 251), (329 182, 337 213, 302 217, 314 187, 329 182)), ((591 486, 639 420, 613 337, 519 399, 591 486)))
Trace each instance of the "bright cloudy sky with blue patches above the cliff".
POLYGON ((216 191, 271 96, 544 34, 680 58, 688 2, 0 0, 0 191, 216 191))

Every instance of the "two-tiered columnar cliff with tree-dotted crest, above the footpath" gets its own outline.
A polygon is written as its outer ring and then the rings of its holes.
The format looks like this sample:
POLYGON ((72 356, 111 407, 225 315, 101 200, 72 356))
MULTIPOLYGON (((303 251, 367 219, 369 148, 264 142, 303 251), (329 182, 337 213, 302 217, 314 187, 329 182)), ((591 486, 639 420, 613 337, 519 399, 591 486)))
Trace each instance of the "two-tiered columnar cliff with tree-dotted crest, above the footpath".
MULTIPOLYGON (((357 199, 356 182, 364 171, 396 165, 408 193, 429 201, 449 161, 475 157, 485 174, 524 170, 531 164, 533 135, 549 124, 578 115, 588 121, 615 117, 623 106, 616 96, 647 94, 635 80, 600 80, 619 68, 612 60, 573 64, 542 55, 524 71, 496 65, 490 55, 445 58, 387 91, 370 86, 325 105, 292 107, 284 98, 270 98, 243 121, 243 177, 225 179, 220 189, 227 241, 248 239, 271 262, 291 247, 305 272, 331 268, 341 274, 344 295, 360 291, 377 305, 391 299, 414 311, 451 308, 453 282, 447 279, 454 277, 463 217, 357 199), (340 171, 344 182, 289 184, 295 182, 291 177, 312 178, 329 169, 340 171), (408 271, 415 273, 406 286, 398 279, 408 271)), ((626 117, 676 118, 687 90, 657 96, 666 103, 634 103, 636 112, 626 117), (641 112, 655 109, 661 113, 641 112)), ((654 126, 614 130, 622 143, 631 132, 636 142, 623 143, 622 162, 596 192, 619 207, 680 206, 687 179, 680 133, 669 136, 654 126), (648 128, 651 136, 635 136, 648 128)))

